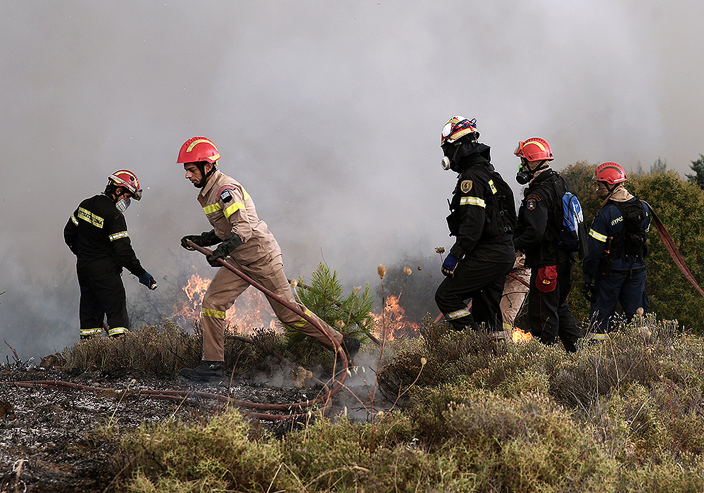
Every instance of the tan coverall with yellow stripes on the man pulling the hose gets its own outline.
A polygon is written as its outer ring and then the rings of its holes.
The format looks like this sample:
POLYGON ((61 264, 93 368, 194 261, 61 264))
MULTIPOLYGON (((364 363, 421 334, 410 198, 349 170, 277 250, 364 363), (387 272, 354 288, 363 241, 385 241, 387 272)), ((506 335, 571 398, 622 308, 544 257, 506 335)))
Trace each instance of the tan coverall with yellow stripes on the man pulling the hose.
MULTIPOLYGON (((226 239, 235 232, 242 240, 242 244, 230 252, 228 261, 278 297, 313 317, 329 335, 342 343, 342 335, 337 330, 320 320, 305 306, 296 303, 284 274, 279 244, 269 232, 266 223, 259 220, 251 196, 237 180, 215 170, 198 194, 198 201, 218 238, 226 239)), ((248 287, 248 282, 225 267, 215 273, 201 306, 203 361, 225 361, 225 312, 248 287)), ((270 297, 267 299, 282 323, 314 337, 323 346, 334 350, 329 338, 321 334, 313 324, 270 297)))

